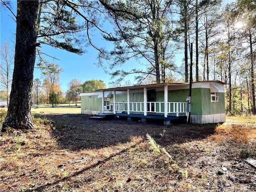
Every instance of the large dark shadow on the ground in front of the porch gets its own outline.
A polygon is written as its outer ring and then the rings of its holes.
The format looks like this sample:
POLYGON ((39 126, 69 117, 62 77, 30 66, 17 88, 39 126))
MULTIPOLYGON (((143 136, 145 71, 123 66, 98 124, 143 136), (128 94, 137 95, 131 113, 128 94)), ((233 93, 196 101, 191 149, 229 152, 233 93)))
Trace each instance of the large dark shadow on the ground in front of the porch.
POLYGON ((201 140, 214 134, 216 124, 171 124, 142 123, 126 120, 91 120, 88 115, 47 115, 54 120, 53 132, 59 145, 64 149, 99 149, 126 143, 132 136, 150 134, 158 144, 167 146, 172 143, 201 140))

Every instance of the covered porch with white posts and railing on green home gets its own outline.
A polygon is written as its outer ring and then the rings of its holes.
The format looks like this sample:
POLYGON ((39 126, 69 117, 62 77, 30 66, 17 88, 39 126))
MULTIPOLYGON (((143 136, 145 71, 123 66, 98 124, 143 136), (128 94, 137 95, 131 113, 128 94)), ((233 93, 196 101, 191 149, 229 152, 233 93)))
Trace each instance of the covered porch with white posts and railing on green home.
POLYGON ((186 89, 187 87, 188 84, 162 83, 104 89, 100 94, 102 114, 112 113, 115 116, 128 117, 128 119, 139 117, 142 118, 142 121, 147 118, 162 120, 170 120, 174 117, 176 117, 175 119, 178 119, 177 117, 186 118, 188 113, 186 100, 172 102, 168 100, 168 94, 171 94, 170 90, 186 89), (159 94, 159 91, 162 91, 163 94, 159 94), (158 92, 157 95, 156 92, 158 92), (133 96, 133 94, 137 95, 133 96), (111 96, 111 99, 106 96, 111 96))

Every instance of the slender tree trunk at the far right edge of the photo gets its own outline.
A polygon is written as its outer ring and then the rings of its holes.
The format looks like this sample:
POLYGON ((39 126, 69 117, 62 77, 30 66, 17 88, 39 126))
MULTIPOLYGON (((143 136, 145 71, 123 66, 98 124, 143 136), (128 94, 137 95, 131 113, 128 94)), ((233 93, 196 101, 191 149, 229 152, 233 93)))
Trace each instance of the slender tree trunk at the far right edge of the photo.
POLYGON ((250 38, 250 60, 251 60, 251 78, 252 78, 252 114, 256 114, 255 106, 255 84, 254 84, 254 55, 252 51, 252 33, 249 29, 249 38, 250 38))

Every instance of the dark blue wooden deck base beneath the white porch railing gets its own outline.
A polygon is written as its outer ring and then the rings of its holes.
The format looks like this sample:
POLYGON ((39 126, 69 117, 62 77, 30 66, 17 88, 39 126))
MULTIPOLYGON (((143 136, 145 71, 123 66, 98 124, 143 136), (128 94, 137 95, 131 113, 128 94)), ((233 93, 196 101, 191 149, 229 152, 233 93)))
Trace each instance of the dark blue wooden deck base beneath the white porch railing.
POLYGON ((127 113, 104 113, 104 114, 97 114, 96 116, 90 117, 90 119, 98 119, 98 120, 107 120, 107 119, 113 119, 114 117, 118 118, 127 118, 128 121, 132 120, 141 120, 142 122, 147 122, 147 120, 163 120, 164 124, 168 125, 171 122, 184 122, 187 118, 187 116, 168 116, 164 117, 163 115, 158 114, 148 114, 147 116, 144 116, 143 114, 127 114, 127 113))

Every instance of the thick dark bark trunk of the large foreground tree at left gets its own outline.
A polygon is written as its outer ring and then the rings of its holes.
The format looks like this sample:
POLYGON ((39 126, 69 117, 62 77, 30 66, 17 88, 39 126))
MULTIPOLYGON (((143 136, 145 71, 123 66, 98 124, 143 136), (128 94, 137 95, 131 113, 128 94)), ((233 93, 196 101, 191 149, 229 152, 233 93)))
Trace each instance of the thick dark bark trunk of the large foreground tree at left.
POLYGON ((17 1, 16 46, 10 103, 4 126, 33 128, 30 114, 34 64, 36 60, 38 0, 17 1))

